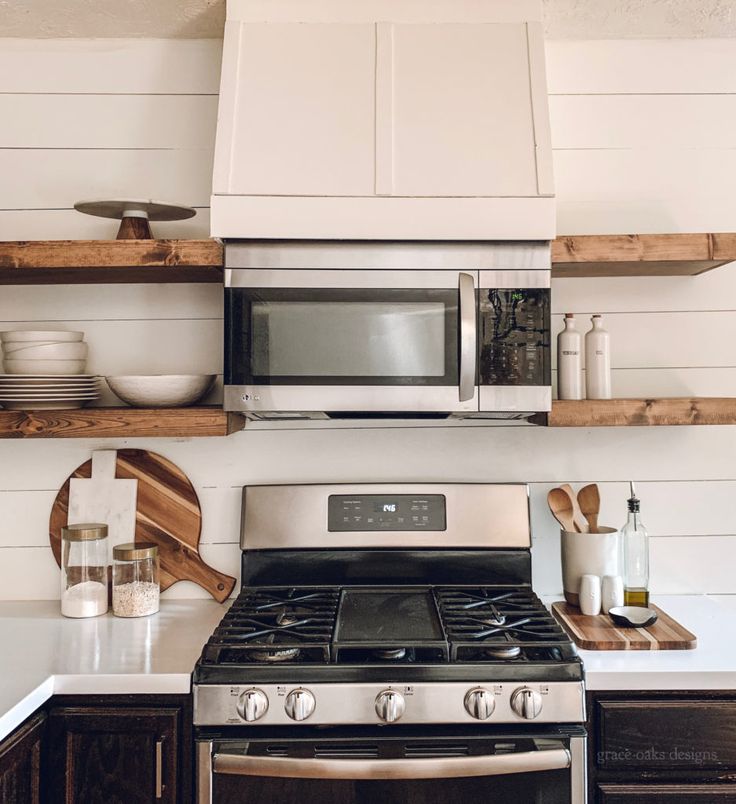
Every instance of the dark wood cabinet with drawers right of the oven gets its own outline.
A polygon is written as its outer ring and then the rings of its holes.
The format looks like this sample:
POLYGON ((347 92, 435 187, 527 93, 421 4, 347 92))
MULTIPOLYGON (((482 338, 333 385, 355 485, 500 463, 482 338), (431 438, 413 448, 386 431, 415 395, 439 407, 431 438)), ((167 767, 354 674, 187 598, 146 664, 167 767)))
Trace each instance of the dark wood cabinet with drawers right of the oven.
POLYGON ((736 693, 588 695, 591 804, 736 804, 736 693))

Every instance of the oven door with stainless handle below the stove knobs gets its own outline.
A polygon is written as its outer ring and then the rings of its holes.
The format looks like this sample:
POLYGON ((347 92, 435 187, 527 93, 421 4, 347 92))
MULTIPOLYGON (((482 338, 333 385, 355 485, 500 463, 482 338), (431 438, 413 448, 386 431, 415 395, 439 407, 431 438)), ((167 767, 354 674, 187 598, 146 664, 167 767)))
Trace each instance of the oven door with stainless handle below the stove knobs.
POLYGON ((585 732, 198 744, 198 804, 583 804, 585 732))

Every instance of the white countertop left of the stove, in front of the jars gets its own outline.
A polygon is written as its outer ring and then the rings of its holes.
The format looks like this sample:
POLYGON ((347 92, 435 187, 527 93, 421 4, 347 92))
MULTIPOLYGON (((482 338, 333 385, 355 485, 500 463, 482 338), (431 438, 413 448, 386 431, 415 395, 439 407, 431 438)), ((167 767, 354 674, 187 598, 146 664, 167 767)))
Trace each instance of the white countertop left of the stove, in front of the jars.
POLYGON ((70 620, 56 601, 0 602, 0 740, 52 695, 186 694, 226 606, 162 601, 151 617, 70 620))

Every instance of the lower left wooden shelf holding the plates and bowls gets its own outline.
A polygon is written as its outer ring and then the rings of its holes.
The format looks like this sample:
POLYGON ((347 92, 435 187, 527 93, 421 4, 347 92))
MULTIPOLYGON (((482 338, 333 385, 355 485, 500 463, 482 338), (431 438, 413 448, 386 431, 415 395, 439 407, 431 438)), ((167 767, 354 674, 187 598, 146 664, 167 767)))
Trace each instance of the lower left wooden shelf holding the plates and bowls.
POLYGON ((219 407, 0 410, 0 438, 184 438, 226 436, 245 419, 219 407))

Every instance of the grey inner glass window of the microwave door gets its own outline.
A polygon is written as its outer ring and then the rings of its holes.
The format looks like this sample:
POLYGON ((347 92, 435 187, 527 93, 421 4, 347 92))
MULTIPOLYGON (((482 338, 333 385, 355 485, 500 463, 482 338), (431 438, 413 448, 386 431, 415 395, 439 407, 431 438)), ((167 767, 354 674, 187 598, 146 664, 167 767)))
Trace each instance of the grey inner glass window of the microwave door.
POLYGON ((415 302, 256 302, 253 373, 442 377, 445 306, 415 302))

